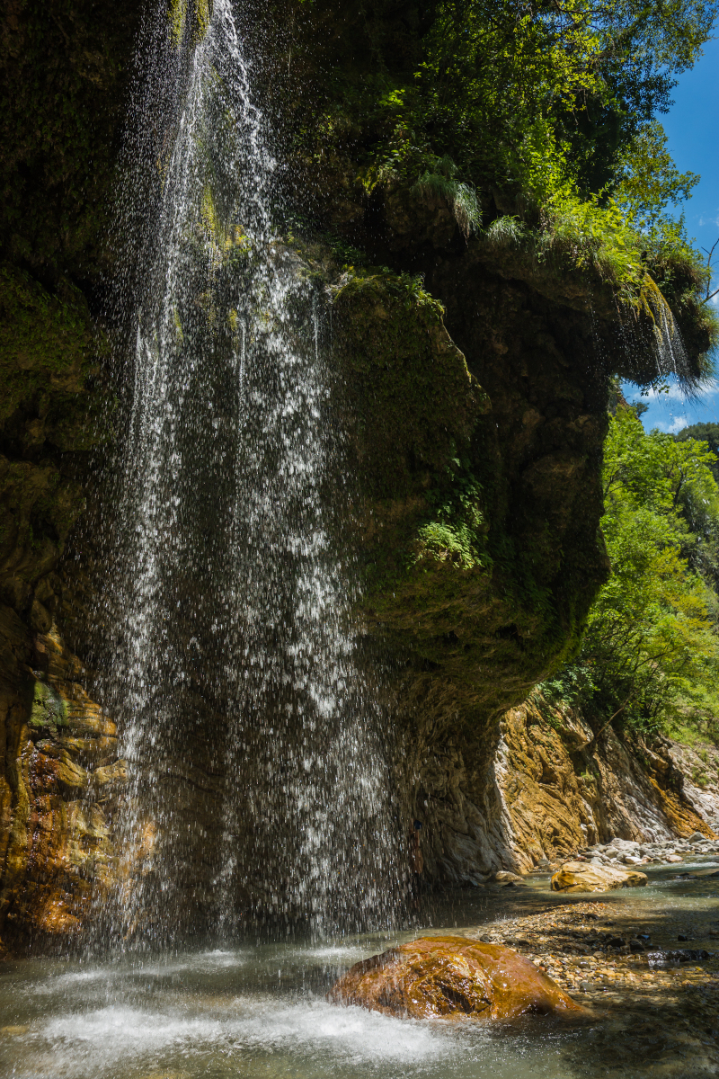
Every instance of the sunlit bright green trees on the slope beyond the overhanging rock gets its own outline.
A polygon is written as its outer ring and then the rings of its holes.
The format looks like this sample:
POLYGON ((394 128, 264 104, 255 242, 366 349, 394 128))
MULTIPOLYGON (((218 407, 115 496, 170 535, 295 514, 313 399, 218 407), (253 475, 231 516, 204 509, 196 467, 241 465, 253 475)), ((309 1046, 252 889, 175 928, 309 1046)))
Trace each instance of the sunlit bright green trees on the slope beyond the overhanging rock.
POLYGON ((620 407, 605 447, 602 528, 611 576, 581 653, 550 693, 605 723, 702 722, 719 708, 719 598, 697 551, 715 544, 719 490, 706 442, 647 435, 620 407))

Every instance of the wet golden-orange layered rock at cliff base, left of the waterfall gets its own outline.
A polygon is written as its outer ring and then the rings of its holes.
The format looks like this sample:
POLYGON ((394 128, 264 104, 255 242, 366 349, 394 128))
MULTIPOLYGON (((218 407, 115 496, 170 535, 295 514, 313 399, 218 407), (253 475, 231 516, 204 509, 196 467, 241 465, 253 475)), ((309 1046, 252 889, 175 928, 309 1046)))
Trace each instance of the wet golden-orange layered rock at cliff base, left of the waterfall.
POLYGON ((15 945, 50 945, 77 937, 101 902, 125 770, 115 725, 83 689, 57 631, 28 639, 6 613, 2 628, 15 663, 1 699, 0 921, 15 945))

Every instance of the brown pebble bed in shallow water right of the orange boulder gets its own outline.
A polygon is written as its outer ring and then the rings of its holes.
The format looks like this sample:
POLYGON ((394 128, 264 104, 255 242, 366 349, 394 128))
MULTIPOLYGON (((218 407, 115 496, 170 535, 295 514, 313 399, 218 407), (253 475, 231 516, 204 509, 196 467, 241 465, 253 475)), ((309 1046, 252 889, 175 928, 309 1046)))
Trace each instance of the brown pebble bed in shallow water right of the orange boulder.
POLYGON ((688 926, 686 911, 587 900, 455 932, 531 959, 595 1011, 597 1038, 633 1061, 633 1076, 661 1064, 663 1077, 685 1079, 719 1074, 718 913, 694 910, 688 926), (691 944, 678 946, 680 934, 691 944))

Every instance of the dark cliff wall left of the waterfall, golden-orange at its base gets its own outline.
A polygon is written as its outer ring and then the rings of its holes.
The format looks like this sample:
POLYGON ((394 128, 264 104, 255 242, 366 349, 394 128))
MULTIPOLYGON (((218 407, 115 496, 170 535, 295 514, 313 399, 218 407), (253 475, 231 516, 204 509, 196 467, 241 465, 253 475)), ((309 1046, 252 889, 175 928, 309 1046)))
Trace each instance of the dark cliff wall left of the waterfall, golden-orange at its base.
POLYGON ((88 920, 123 775, 57 626, 108 438, 94 316, 140 9, 11 0, 0 19, 0 938, 16 942, 88 920))

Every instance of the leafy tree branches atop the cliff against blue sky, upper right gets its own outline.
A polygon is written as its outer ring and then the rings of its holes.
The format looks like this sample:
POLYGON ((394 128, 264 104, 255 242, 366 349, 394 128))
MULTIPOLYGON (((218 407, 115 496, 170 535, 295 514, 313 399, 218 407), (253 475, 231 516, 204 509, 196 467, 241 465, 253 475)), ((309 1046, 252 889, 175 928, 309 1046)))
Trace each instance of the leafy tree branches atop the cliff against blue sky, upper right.
POLYGON ((416 181, 451 161, 465 182, 541 199, 566 179, 598 193, 626 172, 622 155, 645 147, 716 12, 715 0, 438 0, 413 32, 378 2, 355 17, 343 9, 345 32, 326 45, 317 28, 337 18, 333 0, 296 18, 306 47, 329 53, 322 135, 338 144, 361 125, 375 178, 416 181))

